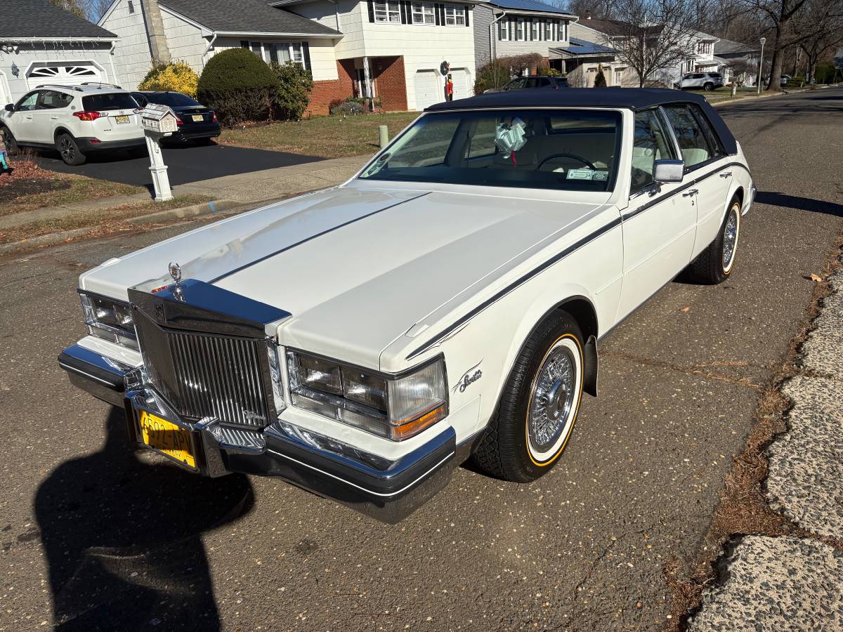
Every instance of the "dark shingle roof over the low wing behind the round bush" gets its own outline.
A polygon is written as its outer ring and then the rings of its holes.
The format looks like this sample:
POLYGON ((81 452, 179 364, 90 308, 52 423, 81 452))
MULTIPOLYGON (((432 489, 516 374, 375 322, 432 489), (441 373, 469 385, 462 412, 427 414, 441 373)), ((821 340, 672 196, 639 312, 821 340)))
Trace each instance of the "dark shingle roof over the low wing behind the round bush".
MULTIPOLYGON (((3 0, 0 0, 3 2, 3 0)), ((160 0, 164 7, 218 33, 277 33, 279 35, 341 35, 312 19, 261 0, 160 0)))

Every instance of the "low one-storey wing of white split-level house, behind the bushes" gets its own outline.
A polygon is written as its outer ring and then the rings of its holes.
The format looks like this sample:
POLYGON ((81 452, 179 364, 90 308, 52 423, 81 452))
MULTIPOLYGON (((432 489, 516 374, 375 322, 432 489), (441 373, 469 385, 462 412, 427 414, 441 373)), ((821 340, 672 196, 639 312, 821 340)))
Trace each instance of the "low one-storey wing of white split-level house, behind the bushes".
MULTIPOLYGON (((248 48, 266 62, 302 64, 314 78, 314 110, 340 83, 334 49, 342 35, 261 0, 115 0, 99 25, 120 36, 114 64, 124 88, 135 89, 154 63, 187 62, 201 74, 228 48, 248 48)), ((324 102, 323 102, 324 101, 324 102)))

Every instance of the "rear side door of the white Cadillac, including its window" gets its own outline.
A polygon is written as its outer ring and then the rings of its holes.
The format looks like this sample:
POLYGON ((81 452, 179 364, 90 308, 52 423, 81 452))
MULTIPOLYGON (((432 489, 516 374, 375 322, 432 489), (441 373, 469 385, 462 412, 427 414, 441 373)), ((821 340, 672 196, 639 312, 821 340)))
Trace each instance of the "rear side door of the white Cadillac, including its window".
POLYGON ((695 257, 717 237, 726 212, 732 172, 722 169, 728 163, 728 154, 699 107, 694 104, 665 105, 664 112, 674 128, 681 158, 685 160, 685 177, 706 176, 694 185, 697 229, 691 254, 695 257))

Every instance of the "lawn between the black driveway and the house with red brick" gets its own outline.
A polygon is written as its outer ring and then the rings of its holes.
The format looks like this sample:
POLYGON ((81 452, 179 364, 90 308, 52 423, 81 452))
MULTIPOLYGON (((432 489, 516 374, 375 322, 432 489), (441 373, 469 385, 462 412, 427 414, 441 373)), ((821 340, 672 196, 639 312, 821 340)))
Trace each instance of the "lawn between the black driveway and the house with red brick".
POLYGON ((256 147, 320 158, 360 156, 377 151, 378 126, 389 127, 389 138, 408 126, 417 112, 314 116, 299 123, 264 123, 223 130, 217 139, 226 145, 256 147))

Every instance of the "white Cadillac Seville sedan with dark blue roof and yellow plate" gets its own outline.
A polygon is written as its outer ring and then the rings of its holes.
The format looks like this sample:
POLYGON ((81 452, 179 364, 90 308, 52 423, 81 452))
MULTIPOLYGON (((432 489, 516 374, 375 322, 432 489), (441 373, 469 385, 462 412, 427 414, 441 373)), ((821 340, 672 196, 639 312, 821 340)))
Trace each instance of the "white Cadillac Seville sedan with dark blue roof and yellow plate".
POLYGON ((438 104, 343 185, 85 272, 59 363, 140 447, 395 522, 467 458, 545 474, 598 340, 683 270, 727 278, 754 190, 696 95, 438 104))

